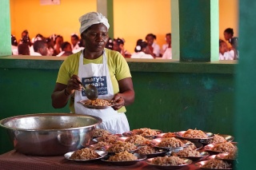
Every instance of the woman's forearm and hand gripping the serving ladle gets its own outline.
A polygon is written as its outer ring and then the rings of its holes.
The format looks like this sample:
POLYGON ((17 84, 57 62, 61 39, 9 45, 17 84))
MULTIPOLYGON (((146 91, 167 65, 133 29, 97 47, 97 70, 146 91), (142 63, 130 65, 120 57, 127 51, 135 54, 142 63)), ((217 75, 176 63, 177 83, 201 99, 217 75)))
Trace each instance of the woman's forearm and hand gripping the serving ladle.
POLYGON ((80 78, 77 75, 73 75, 67 82, 67 85, 56 83, 54 92, 51 94, 51 101, 54 108, 65 107, 74 90, 82 90, 78 81, 80 81, 80 78))

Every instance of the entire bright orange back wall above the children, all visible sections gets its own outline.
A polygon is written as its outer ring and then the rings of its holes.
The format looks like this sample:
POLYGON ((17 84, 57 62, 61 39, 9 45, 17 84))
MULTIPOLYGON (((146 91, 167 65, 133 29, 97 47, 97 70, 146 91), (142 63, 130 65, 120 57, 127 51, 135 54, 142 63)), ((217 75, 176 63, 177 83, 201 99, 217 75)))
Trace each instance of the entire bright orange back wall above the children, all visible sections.
MULTIPOLYGON (((125 47, 134 52, 138 38, 146 34, 157 36, 159 45, 165 43, 165 34, 171 32, 171 0, 114 0, 114 38, 124 38, 125 47)), ((79 34, 78 18, 96 11, 96 0, 62 0, 59 6, 40 6, 39 0, 10 0, 11 33, 18 39, 23 30, 30 38, 40 33, 46 37, 61 34, 70 42, 70 34, 79 34)), ((238 36, 238 0, 219 0, 219 37, 227 27, 238 36)))

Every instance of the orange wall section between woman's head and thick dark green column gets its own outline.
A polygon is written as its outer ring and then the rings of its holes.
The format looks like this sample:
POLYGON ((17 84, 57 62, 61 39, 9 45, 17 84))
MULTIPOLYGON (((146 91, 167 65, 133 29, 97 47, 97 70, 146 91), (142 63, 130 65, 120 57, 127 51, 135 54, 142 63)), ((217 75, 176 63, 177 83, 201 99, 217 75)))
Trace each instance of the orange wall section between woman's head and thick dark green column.
POLYGON ((150 33, 162 47, 170 32, 170 0, 114 0, 114 36, 126 40, 130 53, 137 40, 150 33))

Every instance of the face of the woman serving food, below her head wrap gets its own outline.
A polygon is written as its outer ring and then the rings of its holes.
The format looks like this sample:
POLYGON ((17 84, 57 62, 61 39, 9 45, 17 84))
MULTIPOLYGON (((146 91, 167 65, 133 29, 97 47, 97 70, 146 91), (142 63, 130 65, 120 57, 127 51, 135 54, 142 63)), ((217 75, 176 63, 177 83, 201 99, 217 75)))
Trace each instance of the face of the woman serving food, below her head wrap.
POLYGON ((109 39, 107 28, 104 24, 94 24, 82 33, 82 39, 86 42, 86 49, 91 52, 102 51, 109 39))

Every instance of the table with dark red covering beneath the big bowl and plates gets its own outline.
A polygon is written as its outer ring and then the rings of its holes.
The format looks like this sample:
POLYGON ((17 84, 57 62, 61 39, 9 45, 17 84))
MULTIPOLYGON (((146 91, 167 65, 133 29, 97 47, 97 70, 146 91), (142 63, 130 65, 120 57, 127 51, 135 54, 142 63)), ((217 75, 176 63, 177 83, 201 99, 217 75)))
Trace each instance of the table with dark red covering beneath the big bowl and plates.
MULTIPOLYGON (((0 155, 0 169, 10 170, 32 170, 32 169, 47 169, 47 170, 115 170, 115 169, 158 169, 153 166, 146 164, 145 161, 140 161, 134 165, 129 166, 115 166, 113 164, 108 164, 101 160, 97 160, 93 163, 88 162, 74 162, 71 160, 66 160, 64 156, 26 156, 22 153, 12 150, 0 155)), ((193 164, 179 168, 179 170, 198 170, 200 168, 193 164)))

